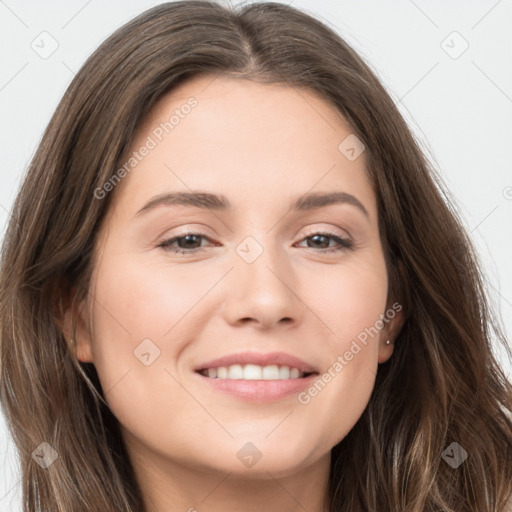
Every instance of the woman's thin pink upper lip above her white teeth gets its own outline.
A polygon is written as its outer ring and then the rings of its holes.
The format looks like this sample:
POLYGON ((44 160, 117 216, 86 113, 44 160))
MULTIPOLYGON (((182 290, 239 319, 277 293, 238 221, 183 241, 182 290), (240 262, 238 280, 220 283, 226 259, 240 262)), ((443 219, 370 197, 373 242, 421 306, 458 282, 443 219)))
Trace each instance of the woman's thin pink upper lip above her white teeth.
POLYGON ((237 352, 229 354, 201 363, 194 368, 194 371, 206 370, 208 368, 219 368, 220 366, 231 366, 232 364, 257 364, 259 366, 289 366, 290 368, 297 368, 304 373, 316 373, 317 371, 313 366, 304 362, 298 357, 292 356, 285 352, 269 352, 266 354, 259 352, 237 352))

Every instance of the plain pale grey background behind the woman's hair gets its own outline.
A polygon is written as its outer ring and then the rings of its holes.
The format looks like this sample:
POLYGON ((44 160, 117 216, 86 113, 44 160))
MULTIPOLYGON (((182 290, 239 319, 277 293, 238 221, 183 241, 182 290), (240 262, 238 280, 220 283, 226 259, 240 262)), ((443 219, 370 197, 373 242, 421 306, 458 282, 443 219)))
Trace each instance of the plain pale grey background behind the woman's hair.
MULTIPOLYGON (((2 235, 73 75, 110 33, 159 3, 0 0, 2 235), (54 53, 41 56, 52 44, 54 53)), ((512 1, 291 3, 337 30, 379 75, 452 192, 510 336, 512 1)), ((0 511, 21 511, 18 462, 1 416, 0 461, 0 511)))

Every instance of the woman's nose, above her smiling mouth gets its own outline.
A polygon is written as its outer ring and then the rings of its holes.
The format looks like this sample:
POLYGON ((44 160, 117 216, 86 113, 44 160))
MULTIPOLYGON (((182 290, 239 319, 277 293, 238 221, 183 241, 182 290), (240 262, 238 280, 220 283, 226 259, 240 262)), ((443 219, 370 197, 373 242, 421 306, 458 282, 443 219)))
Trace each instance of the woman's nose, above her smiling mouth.
POLYGON ((252 263, 234 254, 234 268, 224 286, 223 311, 230 325, 267 330, 280 324, 296 326, 302 318, 298 279, 278 249, 266 248, 252 263))

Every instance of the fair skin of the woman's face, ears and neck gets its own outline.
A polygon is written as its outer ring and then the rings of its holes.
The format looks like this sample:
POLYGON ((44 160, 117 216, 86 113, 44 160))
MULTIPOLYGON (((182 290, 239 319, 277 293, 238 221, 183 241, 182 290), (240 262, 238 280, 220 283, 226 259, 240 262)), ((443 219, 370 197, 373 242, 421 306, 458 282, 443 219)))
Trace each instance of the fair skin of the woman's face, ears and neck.
POLYGON ((365 154, 350 161, 338 150, 350 126, 314 92, 203 76, 154 106, 126 155, 191 96, 198 105, 115 190, 77 356, 98 371, 149 510, 322 512, 330 450, 364 411, 401 314, 308 404, 297 395, 249 403, 192 369, 254 350, 287 352, 323 373, 382 318, 388 276, 365 154), (135 217, 158 194, 191 190, 225 195, 232 211, 159 206, 135 217), (369 218, 350 204, 290 211, 302 194, 334 190, 369 218), (211 241, 182 242, 201 246, 189 255, 158 246, 187 230, 211 241), (312 241, 325 230, 354 248, 322 253, 338 246, 312 241), (236 251, 247 236, 263 249, 251 264, 236 251), (160 349, 149 366, 134 356, 147 338, 160 349), (248 442, 262 454, 250 468, 237 457, 248 442))

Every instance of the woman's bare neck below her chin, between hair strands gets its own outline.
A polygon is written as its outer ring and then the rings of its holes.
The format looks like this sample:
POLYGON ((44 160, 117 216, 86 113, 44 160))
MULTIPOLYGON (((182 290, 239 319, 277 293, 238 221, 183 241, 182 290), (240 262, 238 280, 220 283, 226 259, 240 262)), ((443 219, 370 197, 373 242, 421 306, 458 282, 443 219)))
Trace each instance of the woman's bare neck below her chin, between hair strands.
POLYGON ((129 449, 146 512, 328 512, 330 453, 304 468, 274 474, 254 466, 245 474, 178 464, 129 449))

